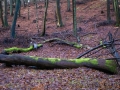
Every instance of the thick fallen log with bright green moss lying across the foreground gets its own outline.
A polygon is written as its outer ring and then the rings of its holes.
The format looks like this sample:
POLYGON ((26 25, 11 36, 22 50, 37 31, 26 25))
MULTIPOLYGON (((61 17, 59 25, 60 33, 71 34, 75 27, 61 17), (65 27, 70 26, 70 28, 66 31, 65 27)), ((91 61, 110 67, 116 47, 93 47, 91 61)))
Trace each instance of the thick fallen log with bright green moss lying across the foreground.
POLYGON ((117 73, 117 64, 114 60, 98 60, 91 58, 80 59, 59 59, 59 58, 40 58, 23 55, 4 55, 0 54, 0 63, 9 65, 36 66, 39 68, 77 68, 86 66, 94 69, 117 73))

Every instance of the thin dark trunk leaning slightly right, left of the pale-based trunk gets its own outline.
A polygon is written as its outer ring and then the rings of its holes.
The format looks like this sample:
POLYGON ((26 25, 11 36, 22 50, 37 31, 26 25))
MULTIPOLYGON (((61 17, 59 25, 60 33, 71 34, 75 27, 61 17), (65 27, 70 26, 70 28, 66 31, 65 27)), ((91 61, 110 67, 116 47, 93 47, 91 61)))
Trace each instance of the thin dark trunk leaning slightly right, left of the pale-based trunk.
POLYGON ((46 17, 47 17, 47 9, 48 9, 49 0, 46 0, 45 2, 46 2, 46 4, 45 4, 46 6, 45 6, 43 29, 42 29, 41 36, 44 36, 45 35, 45 31, 46 31, 46 17))

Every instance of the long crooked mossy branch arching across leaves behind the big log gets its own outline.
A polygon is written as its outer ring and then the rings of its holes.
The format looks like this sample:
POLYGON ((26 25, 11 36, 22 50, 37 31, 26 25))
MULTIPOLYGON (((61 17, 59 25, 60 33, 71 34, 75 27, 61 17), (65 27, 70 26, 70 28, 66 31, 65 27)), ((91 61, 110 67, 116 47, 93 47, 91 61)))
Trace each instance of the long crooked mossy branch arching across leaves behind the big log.
POLYGON ((58 42, 59 44, 66 44, 66 45, 69 45, 69 46, 72 46, 72 47, 75 47, 75 48, 82 48, 82 44, 77 44, 75 42, 69 42, 69 41, 66 41, 66 40, 59 39, 59 38, 53 38, 53 39, 47 39, 47 40, 43 41, 42 44, 30 45, 30 47, 28 47, 28 48, 18 48, 18 47, 7 48, 7 49, 4 49, 1 52, 1 54, 29 52, 31 50, 34 50, 34 49, 37 49, 37 48, 43 46, 44 43, 55 42, 55 41, 58 42))

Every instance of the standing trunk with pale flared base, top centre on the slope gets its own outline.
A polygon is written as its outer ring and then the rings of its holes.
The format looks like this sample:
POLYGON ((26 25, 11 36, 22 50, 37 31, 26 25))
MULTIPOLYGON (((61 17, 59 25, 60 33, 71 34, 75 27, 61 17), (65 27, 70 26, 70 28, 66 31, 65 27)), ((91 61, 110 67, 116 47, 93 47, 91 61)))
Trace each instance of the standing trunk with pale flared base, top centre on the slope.
POLYGON ((62 27, 63 23, 60 11, 60 0, 56 0, 56 14, 57 14, 57 26, 62 27))

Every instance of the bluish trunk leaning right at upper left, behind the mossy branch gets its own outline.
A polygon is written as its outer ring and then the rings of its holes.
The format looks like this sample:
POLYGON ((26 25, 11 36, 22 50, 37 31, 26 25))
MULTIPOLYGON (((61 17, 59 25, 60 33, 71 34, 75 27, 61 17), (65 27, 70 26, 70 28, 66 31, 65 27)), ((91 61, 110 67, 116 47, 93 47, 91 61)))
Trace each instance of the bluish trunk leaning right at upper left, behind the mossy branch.
POLYGON ((15 12, 14 12, 14 17, 12 21, 12 26, 11 26, 11 37, 15 38, 15 27, 16 27, 16 21, 17 21, 17 15, 19 12, 20 8, 20 0, 16 0, 16 6, 15 6, 15 12))

